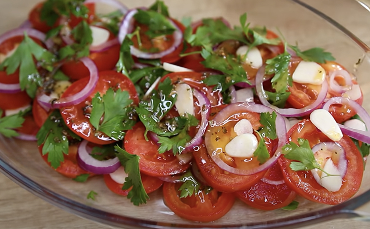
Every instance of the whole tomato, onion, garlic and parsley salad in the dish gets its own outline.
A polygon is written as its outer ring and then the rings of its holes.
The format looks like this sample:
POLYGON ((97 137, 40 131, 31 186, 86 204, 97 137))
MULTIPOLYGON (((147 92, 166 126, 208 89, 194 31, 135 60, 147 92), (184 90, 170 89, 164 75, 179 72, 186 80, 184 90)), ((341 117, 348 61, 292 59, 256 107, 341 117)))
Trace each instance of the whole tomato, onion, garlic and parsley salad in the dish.
POLYGON ((0 70, 0 133, 134 205, 162 189, 170 210, 205 222, 236 198, 294 210, 297 195, 336 205, 361 184, 370 117, 354 75, 247 14, 232 27, 180 22, 162 1, 47 0, 0 36, 0 70))

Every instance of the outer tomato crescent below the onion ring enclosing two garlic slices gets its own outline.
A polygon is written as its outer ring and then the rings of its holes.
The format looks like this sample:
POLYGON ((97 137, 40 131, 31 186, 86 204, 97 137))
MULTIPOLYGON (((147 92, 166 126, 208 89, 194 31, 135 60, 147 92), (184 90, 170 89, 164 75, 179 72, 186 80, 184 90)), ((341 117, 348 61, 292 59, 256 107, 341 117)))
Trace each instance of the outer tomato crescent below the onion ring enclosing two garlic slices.
POLYGON ((213 162, 205 146, 201 146, 199 150, 194 151, 193 156, 207 184, 221 192, 247 189, 257 183, 265 174, 265 171, 250 176, 229 173, 213 162))

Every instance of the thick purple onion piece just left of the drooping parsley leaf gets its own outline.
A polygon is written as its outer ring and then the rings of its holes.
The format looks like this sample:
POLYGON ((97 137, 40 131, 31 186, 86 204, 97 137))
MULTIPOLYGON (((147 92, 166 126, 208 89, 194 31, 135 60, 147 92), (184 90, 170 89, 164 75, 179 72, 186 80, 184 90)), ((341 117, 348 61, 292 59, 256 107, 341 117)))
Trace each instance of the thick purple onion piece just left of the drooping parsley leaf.
POLYGON ((88 142, 87 140, 82 140, 78 146, 77 163, 82 169, 94 174, 111 174, 121 167, 118 157, 99 161, 90 156, 87 147, 88 142))

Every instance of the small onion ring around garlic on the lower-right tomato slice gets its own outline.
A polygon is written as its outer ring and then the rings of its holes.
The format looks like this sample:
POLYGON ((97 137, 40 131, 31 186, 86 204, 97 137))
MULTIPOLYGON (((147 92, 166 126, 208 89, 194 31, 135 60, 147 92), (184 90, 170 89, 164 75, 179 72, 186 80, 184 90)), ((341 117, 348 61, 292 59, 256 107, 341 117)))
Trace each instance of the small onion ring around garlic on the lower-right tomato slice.
MULTIPOLYGON (((337 154, 336 156, 339 157, 338 160, 338 170, 340 173, 340 177, 344 178, 344 176, 347 173, 347 166, 348 162, 346 159, 346 151, 343 147, 341 147, 337 142, 334 141, 325 141, 325 142, 320 142, 319 144, 316 144, 314 147, 312 147, 312 153, 316 153, 320 151, 321 149, 326 149, 328 151, 335 151, 337 154)), ((315 176, 315 175, 314 175, 315 176)), ((320 178, 319 178, 320 180, 320 178)))

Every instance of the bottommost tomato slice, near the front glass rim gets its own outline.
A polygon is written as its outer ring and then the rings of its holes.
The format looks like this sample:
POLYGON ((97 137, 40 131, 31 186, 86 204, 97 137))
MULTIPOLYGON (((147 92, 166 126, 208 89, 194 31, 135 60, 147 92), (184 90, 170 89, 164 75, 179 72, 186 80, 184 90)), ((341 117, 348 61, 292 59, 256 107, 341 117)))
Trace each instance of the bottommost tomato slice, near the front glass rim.
POLYGON ((179 197, 181 183, 163 184, 163 200, 165 205, 176 215, 199 222, 215 221, 224 216, 233 207, 233 193, 218 193, 213 189, 209 194, 201 191, 198 195, 185 198, 179 197))

